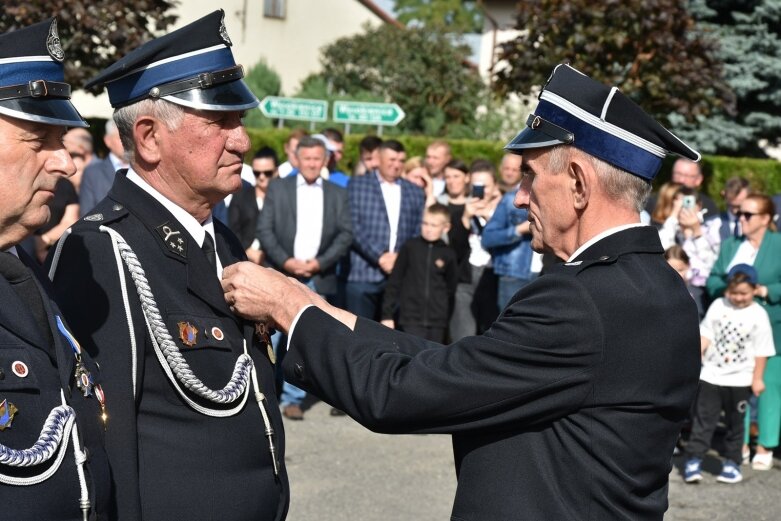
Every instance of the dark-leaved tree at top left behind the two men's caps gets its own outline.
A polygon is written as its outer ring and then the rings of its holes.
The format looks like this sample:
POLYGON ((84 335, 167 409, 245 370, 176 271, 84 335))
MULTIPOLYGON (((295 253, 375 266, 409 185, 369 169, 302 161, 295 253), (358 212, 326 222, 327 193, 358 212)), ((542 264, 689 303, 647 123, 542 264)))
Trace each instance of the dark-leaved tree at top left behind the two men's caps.
POLYGON ((65 51, 65 80, 87 80, 176 21, 176 0, 26 0, 3 2, 0 31, 32 25, 49 16, 65 51))

